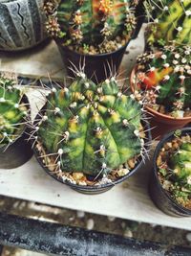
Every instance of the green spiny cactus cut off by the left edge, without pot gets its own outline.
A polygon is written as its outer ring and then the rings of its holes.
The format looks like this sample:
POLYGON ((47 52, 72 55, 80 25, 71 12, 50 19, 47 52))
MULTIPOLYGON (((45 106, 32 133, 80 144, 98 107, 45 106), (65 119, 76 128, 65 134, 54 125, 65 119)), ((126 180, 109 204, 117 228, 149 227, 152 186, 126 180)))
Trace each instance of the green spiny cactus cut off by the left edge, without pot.
POLYGON ((23 95, 14 83, 13 79, 0 75, 0 147, 6 149, 21 135, 28 114, 23 95))

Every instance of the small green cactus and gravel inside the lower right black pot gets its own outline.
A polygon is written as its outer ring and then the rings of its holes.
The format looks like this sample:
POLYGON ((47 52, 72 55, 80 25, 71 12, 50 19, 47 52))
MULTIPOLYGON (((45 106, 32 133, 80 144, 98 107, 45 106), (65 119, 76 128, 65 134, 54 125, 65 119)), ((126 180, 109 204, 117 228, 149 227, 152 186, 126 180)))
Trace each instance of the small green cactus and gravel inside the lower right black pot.
POLYGON ((191 209, 191 136, 175 137, 159 153, 162 186, 182 206, 191 209))

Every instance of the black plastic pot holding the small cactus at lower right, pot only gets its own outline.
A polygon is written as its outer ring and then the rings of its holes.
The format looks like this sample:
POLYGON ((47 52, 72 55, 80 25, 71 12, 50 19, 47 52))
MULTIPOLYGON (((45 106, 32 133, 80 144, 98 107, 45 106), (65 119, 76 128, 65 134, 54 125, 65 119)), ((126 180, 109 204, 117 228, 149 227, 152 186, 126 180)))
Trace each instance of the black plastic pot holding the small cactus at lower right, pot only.
MULTIPOLYGON (((181 134, 184 135, 186 133, 191 133, 191 128, 181 128, 181 134)), ((178 204, 173 198, 170 197, 169 193, 164 190, 159 182, 158 176, 158 166, 157 166, 157 158, 159 155, 159 151, 163 147, 163 145, 171 141, 174 138, 174 131, 167 134, 163 139, 159 142, 156 151, 154 153, 154 171, 151 175, 149 182, 149 194, 154 203, 159 207, 161 211, 166 213, 167 215, 175 216, 175 217, 191 217, 191 210, 182 207, 178 204)))

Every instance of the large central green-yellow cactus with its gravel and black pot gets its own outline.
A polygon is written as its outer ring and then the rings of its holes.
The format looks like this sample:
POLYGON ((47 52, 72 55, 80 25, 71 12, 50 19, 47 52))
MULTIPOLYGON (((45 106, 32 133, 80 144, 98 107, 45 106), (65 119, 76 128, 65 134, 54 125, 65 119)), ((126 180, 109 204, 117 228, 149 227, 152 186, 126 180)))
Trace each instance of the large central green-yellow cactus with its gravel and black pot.
POLYGON ((107 191, 133 175, 146 156, 150 132, 141 107, 119 91, 114 77, 96 85, 80 73, 69 88, 53 87, 39 112, 35 156, 48 174, 78 192, 107 191))

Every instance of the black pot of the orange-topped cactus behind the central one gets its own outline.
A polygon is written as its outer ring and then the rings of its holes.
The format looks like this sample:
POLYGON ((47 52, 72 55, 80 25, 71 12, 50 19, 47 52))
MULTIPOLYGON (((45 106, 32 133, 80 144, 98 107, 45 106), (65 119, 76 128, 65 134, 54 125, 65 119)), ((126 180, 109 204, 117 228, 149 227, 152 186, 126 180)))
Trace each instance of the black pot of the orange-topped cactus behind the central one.
MULTIPOLYGON (((138 4, 136 16, 138 17, 138 23, 131 39, 135 39, 138 36, 139 30, 144 21, 143 1, 140 1, 140 3, 138 4)), ((85 63, 84 73, 89 79, 92 79, 95 82, 105 81, 108 77, 117 73, 126 47, 129 44, 128 41, 124 46, 112 53, 98 55, 82 55, 74 52, 73 50, 70 50, 66 46, 63 46, 62 40, 60 39, 55 39, 55 42, 58 46, 61 57, 65 64, 68 76, 74 78, 75 75, 71 68, 74 69, 75 66, 77 70, 80 70, 80 67, 83 66, 83 64, 85 63), (72 63, 74 64, 74 66, 72 63), (113 74, 111 74, 111 70, 113 74)))

